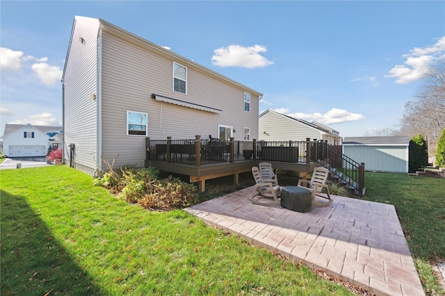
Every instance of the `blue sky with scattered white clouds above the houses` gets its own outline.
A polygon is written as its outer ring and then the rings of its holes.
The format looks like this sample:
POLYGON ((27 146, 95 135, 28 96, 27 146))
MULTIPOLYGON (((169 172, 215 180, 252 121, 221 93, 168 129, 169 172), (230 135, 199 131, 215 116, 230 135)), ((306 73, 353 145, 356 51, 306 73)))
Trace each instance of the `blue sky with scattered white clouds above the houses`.
POLYGON ((59 125, 75 15, 104 19, 342 137, 397 128, 445 61, 444 1, 1 1, 0 136, 59 125))

